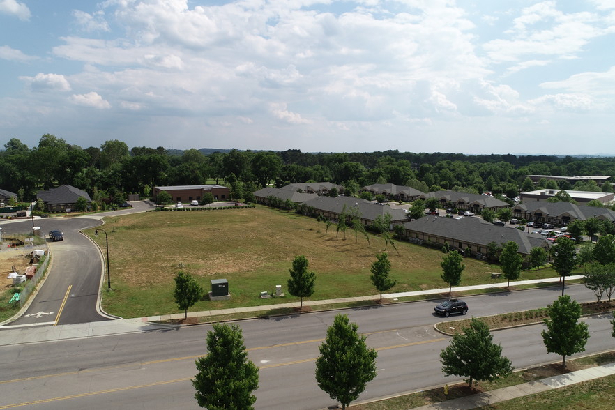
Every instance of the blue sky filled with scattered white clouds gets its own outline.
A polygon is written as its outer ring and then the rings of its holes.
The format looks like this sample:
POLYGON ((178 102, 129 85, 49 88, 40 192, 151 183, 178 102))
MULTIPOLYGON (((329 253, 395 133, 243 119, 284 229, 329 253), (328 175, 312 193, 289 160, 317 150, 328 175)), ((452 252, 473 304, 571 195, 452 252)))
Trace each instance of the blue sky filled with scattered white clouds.
POLYGON ((0 149, 615 154, 615 0, 0 0, 0 149))

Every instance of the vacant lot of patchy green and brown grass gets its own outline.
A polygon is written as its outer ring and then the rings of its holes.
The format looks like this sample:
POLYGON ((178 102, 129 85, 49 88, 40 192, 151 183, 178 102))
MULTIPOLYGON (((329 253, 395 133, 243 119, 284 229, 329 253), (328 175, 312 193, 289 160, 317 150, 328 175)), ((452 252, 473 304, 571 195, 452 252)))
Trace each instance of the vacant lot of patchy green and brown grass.
MULTIPOLYGON (((231 301, 202 301, 191 310, 296 301, 259 298, 276 284, 287 291, 289 268, 296 255, 305 255, 317 275, 312 299, 377 294, 370 281, 374 255, 384 240, 370 235, 355 240, 354 231, 337 234, 326 225, 286 211, 261 206, 219 211, 149 212, 106 218, 114 291, 105 293, 103 307, 122 317, 179 312, 173 300, 174 276, 180 270, 195 275, 206 291, 210 280, 229 281, 231 301), (337 237, 336 237, 337 236, 337 237)), ((88 232, 93 236, 93 230, 88 232)), ((105 252, 105 237, 94 238, 105 252)), ((441 280, 438 250, 397 242, 397 255, 388 246, 391 291, 446 287, 441 280)), ((499 266, 464 259, 462 285, 494 282, 499 266)), ((550 270, 524 271, 522 279, 552 276, 550 270)), ((501 280, 497 280, 501 282, 501 280)))

